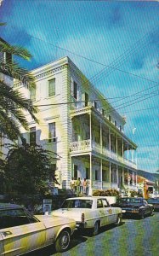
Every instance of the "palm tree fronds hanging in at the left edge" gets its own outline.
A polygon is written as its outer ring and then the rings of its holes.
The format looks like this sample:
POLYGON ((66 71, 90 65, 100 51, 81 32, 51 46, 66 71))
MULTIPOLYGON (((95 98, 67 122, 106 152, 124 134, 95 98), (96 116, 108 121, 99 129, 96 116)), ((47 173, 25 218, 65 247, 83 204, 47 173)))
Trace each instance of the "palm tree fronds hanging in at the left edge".
MULTIPOLYGON (((0 24, 0 26, 3 23, 0 24)), ((0 134, 10 140, 20 137, 20 125, 28 130, 26 114, 31 114, 31 118, 36 122, 37 108, 33 107, 30 99, 26 99, 18 90, 14 90, 7 84, 5 76, 20 80, 26 86, 35 85, 34 78, 25 68, 19 66, 12 60, 12 55, 20 56, 29 61, 31 54, 20 46, 12 46, 3 38, 0 38, 0 134), (5 58, 3 57, 5 55, 5 58)))

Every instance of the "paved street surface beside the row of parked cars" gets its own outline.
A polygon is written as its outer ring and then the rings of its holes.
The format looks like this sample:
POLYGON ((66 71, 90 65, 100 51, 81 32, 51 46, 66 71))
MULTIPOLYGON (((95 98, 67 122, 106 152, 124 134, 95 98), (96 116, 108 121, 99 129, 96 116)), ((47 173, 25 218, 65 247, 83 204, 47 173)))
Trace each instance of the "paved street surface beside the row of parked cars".
POLYGON ((30 253, 29 256, 158 256, 159 212, 143 220, 124 218, 119 227, 109 226, 98 236, 75 233, 70 249, 56 253, 54 247, 30 253))

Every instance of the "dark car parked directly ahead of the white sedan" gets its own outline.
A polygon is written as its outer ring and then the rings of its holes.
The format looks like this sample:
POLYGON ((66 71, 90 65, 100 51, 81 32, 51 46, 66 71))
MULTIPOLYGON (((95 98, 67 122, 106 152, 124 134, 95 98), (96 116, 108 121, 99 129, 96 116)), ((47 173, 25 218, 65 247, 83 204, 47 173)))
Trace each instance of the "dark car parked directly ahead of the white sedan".
POLYGON ((142 197, 122 197, 111 207, 121 207, 122 216, 138 216, 145 218, 146 215, 153 215, 154 207, 142 197))

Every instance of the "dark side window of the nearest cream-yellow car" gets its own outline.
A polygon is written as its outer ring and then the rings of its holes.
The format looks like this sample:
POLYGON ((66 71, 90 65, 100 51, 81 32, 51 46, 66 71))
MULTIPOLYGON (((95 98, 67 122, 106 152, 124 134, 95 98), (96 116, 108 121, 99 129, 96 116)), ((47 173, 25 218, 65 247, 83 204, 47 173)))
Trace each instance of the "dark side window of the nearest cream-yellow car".
POLYGON ((37 218, 31 216, 31 214, 26 212, 23 208, 0 211, 0 229, 11 228, 35 222, 38 222, 37 218))

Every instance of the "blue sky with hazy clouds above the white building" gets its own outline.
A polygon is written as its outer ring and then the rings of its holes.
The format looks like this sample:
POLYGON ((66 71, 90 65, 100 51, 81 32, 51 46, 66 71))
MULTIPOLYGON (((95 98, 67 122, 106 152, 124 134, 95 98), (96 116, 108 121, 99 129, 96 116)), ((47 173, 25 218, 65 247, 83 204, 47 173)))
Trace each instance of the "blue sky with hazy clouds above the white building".
POLYGON ((138 169, 159 170, 159 3, 3 0, 0 34, 31 52, 28 70, 71 58, 126 118, 138 169))

